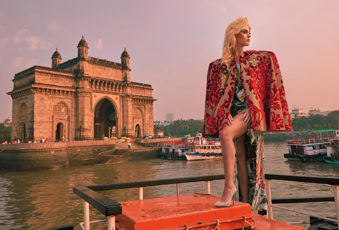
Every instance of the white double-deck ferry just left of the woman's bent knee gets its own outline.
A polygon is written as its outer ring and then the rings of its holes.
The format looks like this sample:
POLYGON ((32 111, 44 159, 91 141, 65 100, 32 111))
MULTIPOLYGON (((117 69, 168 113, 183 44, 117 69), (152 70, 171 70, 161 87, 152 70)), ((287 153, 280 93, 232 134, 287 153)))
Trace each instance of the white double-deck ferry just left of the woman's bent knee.
POLYGON ((220 141, 207 141, 202 133, 197 133, 196 137, 189 139, 185 157, 187 161, 222 158, 220 141))

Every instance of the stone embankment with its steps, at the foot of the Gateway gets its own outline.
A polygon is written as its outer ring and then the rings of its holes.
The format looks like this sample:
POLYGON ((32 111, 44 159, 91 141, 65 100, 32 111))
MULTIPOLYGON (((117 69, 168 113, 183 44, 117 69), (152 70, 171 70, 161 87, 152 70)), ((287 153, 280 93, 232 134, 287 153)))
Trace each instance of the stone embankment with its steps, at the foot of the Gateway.
POLYGON ((0 145, 0 168, 46 170, 76 165, 116 163, 157 158, 156 143, 137 144, 115 141, 73 141, 0 145))

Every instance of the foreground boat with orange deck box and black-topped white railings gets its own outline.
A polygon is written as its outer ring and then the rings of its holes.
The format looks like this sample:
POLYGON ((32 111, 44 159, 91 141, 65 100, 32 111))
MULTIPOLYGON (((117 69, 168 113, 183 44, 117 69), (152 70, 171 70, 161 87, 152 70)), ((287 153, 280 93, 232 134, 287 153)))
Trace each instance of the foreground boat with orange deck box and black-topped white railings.
MULTIPOLYGON (((294 224, 285 223, 273 219, 273 207, 289 210, 294 213, 307 215, 310 217, 310 228, 313 229, 336 229, 332 225, 333 221, 337 221, 337 217, 323 217, 317 214, 305 212, 305 210, 297 210, 287 207, 280 207, 275 204, 295 204, 300 202, 333 202, 339 199, 339 193, 333 189, 334 197, 299 197, 299 198, 278 198, 272 199, 271 180, 285 180, 315 184, 329 184, 333 188, 339 185, 339 178, 326 177, 305 177, 266 174, 267 180, 267 199, 268 209, 267 216, 261 216, 252 213, 250 204, 234 201, 230 207, 214 207, 213 204, 218 201, 219 197, 211 195, 211 181, 223 180, 224 175, 207 175, 196 177, 158 179, 150 181, 135 181, 125 183, 110 183, 98 185, 86 185, 73 187, 73 193, 83 200, 84 222, 80 226, 84 230, 143 230, 143 229, 257 229, 257 230, 304 230, 304 227, 294 224), (203 182, 206 183, 205 193, 179 194, 179 184, 203 182), (177 194, 175 196, 155 197, 143 199, 143 188, 163 185, 176 184, 177 194), (100 193, 100 191, 116 190, 116 189, 139 189, 138 200, 129 200, 118 202, 100 193), (97 209, 102 215, 102 220, 90 221, 89 205, 91 209, 97 209), (311 217, 316 218, 312 223, 311 217), (329 221, 332 221, 329 223, 329 221), (94 226, 97 225, 97 226, 94 226), (101 225, 101 226, 98 226, 101 225), (325 226, 326 225, 326 226, 325 226), (331 225, 331 226, 330 226, 331 225), (319 228, 318 228, 319 226, 319 228), (320 226, 324 228, 320 228, 320 226), (315 228, 316 227, 316 228, 315 228), (326 227, 326 228, 325 228, 326 227), (332 228, 329 228, 332 227, 332 228)), ((335 202, 336 204, 337 202, 335 202)), ((336 213, 339 212, 338 205, 336 213)), ((339 217, 339 216, 338 216, 339 217)), ((313 218, 313 220, 314 220, 313 218)), ((335 224, 335 223, 334 223, 335 224)), ((54 229, 54 228, 53 228, 54 229)), ((59 228, 55 228, 59 229, 59 228)), ((60 228, 61 229, 61 228, 60 228)))

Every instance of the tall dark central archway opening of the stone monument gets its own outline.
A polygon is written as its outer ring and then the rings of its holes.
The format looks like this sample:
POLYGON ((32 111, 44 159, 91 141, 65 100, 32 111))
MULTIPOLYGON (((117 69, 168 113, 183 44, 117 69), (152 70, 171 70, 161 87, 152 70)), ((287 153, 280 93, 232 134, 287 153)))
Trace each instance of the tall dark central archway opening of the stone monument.
POLYGON ((112 133, 109 132, 112 132, 112 127, 117 127, 117 110, 108 99, 102 99, 96 105, 93 124, 94 139, 112 137, 112 133))

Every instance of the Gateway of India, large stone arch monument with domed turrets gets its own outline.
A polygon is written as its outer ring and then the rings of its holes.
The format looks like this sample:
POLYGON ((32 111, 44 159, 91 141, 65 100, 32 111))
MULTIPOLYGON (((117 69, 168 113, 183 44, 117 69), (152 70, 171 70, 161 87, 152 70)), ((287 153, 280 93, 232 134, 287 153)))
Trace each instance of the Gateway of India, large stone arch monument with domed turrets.
POLYGON ((16 73, 12 97, 12 139, 53 141, 153 135, 152 86, 131 82, 129 54, 121 64, 88 56, 84 37, 78 57, 67 62, 58 49, 52 67, 16 73))

